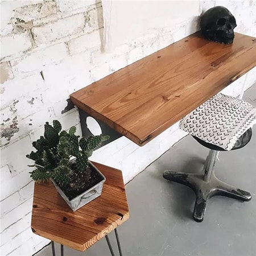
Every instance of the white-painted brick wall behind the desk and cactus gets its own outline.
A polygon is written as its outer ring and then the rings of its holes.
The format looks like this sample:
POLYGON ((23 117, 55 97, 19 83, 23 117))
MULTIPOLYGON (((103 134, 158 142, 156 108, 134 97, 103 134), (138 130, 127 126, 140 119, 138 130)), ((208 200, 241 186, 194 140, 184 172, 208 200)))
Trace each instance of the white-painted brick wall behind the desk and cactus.
MULTIPOLYGON (((256 35, 255 1, 200 1, 202 10, 214 5, 232 11, 237 32, 256 35)), ((43 134, 44 123, 59 119, 64 129, 75 125, 81 135, 77 108, 65 110, 69 95, 199 30, 198 17, 172 30, 145 31, 108 53, 101 51, 100 0, 2 1, 0 25, 0 255, 28 256, 49 242, 30 229, 34 183, 25 157, 32 141, 43 134)), ((246 88, 255 82, 256 69, 248 74, 246 88)), ((237 96, 245 77, 224 92, 237 96)), ((96 150, 91 159, 121 169, 127 182, 184 135, 176 123, 143 147, 121 137, 96 150)))

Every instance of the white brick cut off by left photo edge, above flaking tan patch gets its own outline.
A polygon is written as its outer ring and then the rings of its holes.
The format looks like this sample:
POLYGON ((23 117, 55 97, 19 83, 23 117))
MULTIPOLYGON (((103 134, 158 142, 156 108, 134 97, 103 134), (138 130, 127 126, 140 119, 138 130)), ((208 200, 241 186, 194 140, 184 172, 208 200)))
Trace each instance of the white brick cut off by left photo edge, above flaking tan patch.
POLYGON ((1 38, 1 58, 26 51, 32 46, 28 32, 13 34, 1 38))

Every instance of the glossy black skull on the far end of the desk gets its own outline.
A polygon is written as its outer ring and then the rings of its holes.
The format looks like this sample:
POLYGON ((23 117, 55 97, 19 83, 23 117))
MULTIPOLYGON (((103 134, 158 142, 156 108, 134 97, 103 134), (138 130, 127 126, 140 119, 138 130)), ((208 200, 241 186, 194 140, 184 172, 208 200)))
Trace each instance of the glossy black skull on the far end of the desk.
POLYGON ((222 44, 232 44, 236 19, 228 9, 216 6, 201 16, 201 31, 206 39, 222 44))

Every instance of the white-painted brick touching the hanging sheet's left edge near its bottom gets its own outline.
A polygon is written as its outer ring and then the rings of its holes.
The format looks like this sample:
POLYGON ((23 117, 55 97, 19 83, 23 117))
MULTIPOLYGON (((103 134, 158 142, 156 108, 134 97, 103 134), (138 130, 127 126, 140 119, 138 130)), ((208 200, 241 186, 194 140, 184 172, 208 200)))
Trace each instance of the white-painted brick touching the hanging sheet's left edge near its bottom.
POLYGON ((82 35, 75 38, 68 43, 69 53, 74 55, 76 53, 88 51, 92 48, 101 48, 101 33, 102 30, 93 31, 90 34, 82 35))

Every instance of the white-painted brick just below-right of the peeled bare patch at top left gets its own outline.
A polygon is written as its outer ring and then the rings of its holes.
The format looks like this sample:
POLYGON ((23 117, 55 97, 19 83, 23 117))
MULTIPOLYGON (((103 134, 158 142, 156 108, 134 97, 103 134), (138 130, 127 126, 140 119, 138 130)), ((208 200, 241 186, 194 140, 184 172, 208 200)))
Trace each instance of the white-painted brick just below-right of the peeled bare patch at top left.
POLYGON ((32 28, 32 33, 35 43, 43 44, 81 33, 84 23, 84 15, 77 14, 68 18, 59 19, 56 22, 48 23, 44 26, 34 27, 32 28))

